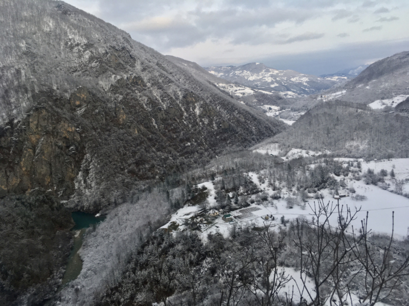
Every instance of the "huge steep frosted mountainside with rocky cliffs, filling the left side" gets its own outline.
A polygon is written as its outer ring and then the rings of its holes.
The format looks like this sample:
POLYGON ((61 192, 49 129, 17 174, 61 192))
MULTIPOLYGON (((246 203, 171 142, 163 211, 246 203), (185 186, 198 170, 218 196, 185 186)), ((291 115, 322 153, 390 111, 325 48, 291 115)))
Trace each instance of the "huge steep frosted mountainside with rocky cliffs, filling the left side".
POLYGON ((61 243, 72 226, 61 204, 107 211, 148 181, 165 181, 284 128, 63 2, 0 2, 0 40, 0 208, 6 216, 0 237, 17 224, 18 237, 26 238, 0 248, 0 295, 7 301, 18 304, 25 294, 40 301, 37 285, 59 277, 69 251, 61 243), (41 207, 32 204, 38 198, 41 207), (33 218, 37 209, 46 213, 33 218), (20 219, 13 221, 7 216, 16 210, 20 219), (37 245, 32 259, 13 263, 10 253, 25 245, 37 245), (30 281, 17 272, 31 273, 30 281))

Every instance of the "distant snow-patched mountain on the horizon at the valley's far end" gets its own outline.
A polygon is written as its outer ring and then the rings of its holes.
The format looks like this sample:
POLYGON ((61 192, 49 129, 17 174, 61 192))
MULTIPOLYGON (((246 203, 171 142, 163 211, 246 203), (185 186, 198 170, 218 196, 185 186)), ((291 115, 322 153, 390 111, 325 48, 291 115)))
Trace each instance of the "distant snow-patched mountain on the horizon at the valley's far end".
POLYGON ((262 63, 249 63, 237 67, 214 66, 205 69, 230 82, 270 92, 284 92, 286 96, 321 92, 347 80, 346 77, 320 78, 294 70, 277 70, 262 63))

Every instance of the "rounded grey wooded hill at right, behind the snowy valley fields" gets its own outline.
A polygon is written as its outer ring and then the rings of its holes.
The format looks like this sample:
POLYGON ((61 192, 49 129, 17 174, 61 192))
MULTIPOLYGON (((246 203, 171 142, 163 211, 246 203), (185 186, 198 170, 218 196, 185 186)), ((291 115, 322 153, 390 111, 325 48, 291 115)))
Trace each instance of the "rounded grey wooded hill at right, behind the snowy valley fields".
POLYGON ((294 148, 327 149, 342 156, 407 158, 408 135, 407 117, 334 101, 308 111, 272 141, 294 148))

